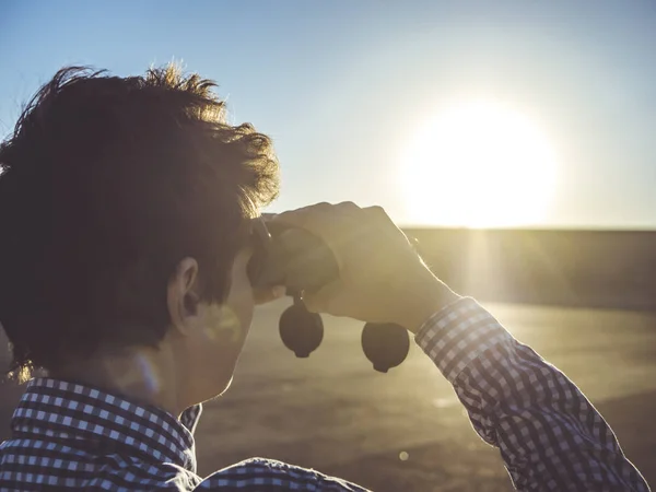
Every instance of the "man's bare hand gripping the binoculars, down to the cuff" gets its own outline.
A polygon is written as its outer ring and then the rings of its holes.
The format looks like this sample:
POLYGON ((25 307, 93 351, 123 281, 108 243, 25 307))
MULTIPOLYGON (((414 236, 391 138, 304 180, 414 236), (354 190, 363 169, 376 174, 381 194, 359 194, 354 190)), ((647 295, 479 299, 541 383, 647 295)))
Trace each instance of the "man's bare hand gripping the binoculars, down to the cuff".
POLYGON ((319 203, 270 220, 314 233, 335 254, 340 278, 304 294, 312 312, 396 323, 415 332, 431 314, 458 298, 380 207, 319 203))

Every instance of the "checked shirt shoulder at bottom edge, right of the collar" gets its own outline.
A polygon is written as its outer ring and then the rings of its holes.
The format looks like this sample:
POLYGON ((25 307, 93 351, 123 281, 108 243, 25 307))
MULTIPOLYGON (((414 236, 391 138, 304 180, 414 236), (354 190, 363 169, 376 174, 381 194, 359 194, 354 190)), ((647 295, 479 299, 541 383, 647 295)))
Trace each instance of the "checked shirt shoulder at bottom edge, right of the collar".
POLYGON ((197 490, 219 488, 249 488, 267 490, 306 491, 353 491, 362 492, 361 487, 344 480, 328 477, 312 468, 303 468, 268 458, 250 458, 219 470, 206 478, 197 490))

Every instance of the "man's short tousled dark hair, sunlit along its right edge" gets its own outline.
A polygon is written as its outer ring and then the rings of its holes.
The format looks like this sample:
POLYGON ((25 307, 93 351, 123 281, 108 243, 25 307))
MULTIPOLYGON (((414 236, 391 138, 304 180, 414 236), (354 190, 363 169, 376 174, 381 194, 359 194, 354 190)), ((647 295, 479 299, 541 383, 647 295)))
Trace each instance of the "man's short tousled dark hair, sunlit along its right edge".
POLYGON ((12 374, 104 344, 154 345, 166 284, 198 260, 201 298, 230 290, 244 222, 278 196, 271 141, 231 126, 215 84, 61 69, 0 144, 0 323, 12 374))

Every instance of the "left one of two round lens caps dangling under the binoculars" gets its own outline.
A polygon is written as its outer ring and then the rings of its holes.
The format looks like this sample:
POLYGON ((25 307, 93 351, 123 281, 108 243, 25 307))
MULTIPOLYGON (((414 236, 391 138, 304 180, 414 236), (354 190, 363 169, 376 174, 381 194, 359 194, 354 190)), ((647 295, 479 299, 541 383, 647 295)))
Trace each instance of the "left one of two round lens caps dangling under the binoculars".
POLYGON ((279 323, 280 338, 297 358, 307 358, 324 340, 324 321, 301 303, 288 307, 279 323))

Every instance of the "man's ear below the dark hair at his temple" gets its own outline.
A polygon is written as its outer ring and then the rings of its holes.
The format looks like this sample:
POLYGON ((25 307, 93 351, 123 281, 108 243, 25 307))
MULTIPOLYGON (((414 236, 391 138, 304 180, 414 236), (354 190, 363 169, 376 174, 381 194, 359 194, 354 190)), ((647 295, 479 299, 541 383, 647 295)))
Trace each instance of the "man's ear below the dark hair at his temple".
POLYGON ((198 312, 199 296, 195 292, 198 279, 198 261, 184 258, 168 280, 166 304, 173 327, 183 335, 189 331, 189 323, 198 312))

